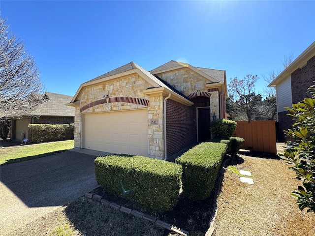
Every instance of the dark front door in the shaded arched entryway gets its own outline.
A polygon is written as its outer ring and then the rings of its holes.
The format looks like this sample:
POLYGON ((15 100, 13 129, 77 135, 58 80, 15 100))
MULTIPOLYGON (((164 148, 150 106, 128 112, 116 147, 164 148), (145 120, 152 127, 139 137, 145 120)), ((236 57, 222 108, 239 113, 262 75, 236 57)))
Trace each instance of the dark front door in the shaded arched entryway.
POLYGON ((210 107, 198 108, 198 141, 203 142, 211 138, 210 135, 210 107))

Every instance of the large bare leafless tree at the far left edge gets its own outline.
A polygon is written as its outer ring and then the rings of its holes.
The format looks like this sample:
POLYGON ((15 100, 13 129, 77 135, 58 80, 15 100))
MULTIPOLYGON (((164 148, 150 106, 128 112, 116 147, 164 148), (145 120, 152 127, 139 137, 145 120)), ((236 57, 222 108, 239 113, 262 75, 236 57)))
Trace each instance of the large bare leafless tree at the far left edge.
POLYGON ((43 84, 23 41, 0 19, 0 117, 20 116, 41 103, 43 84))

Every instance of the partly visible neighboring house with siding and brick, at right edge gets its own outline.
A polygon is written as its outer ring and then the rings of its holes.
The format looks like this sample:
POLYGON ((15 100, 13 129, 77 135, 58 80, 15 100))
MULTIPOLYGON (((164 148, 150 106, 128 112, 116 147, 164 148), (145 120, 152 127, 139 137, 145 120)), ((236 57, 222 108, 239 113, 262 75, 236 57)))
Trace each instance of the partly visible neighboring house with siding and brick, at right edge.
POLYGON ((315 42, 281 72, 268 86, 275 87, 277 92, 277 112, 280 137, 287 141, 283 130, 292 128, 294 121, 284 107, 292 107, 304 98, 311 97, 306 93, 315 81, 315 42))

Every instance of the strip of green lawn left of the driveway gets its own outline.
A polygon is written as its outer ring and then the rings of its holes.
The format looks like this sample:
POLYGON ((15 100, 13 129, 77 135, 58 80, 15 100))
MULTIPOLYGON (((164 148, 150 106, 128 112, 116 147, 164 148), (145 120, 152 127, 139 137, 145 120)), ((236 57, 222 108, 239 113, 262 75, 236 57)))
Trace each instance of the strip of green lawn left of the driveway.
POLYGON ((0 165, 32 160, 71 148, 74 148, 74 140, 0 148, 0 165))

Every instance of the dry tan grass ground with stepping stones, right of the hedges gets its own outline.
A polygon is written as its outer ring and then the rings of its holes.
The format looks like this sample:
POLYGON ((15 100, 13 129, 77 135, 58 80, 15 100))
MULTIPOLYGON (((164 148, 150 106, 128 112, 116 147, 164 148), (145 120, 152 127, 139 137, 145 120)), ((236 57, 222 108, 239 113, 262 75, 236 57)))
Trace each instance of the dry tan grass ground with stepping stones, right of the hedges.
POLYGON ((224 171, 214 235, 315 236, 315 213, 301 212, 290 196, 299 182, 286 161, 248 154, 224 171), (250 171, 254 184, 241 182, 231 167, 250 171))

